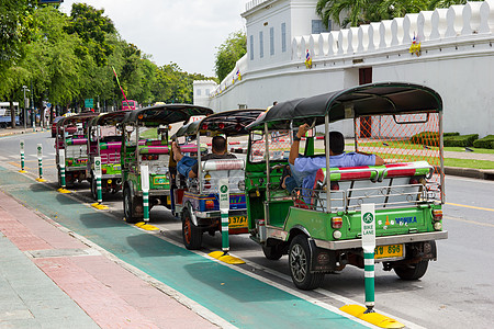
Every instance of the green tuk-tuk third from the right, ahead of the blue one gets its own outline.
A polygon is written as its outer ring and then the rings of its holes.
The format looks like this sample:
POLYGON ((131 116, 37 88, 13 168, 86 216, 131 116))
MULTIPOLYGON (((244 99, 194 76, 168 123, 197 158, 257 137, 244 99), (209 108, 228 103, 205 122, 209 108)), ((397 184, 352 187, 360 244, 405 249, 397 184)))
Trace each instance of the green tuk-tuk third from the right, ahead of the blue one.
POLYGON ((148 208, 170 207, 170 125, 186 123, 191 116, 211 114, 207 107, 191 104, 162 104, 131 111, 122 122, 122 185, 125 218, 144 218, 142 168, 149 175, 148 208))

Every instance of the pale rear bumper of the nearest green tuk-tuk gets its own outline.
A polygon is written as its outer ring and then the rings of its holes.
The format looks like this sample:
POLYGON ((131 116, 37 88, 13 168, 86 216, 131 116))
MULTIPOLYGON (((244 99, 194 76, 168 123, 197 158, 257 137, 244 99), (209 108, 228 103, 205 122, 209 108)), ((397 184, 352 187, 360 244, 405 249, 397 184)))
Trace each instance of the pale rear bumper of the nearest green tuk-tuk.
MULTIPOLYGON (((420 242, 420 241, 430 241, 430 240, 442 240, 442 239, 447 239, 447 238, 448 238, 447 230, 408 234, 408 235, 390 236, 390 237, 377 237, 375 246, 420 242)), ((353 249, 353 248, 362 247, 361 239, 343 240, 343 241, 325 241, 325 240, 314 239, 314 241, 317 247, 324 248, 324 249, 329 249, 329 250, 353 249)))

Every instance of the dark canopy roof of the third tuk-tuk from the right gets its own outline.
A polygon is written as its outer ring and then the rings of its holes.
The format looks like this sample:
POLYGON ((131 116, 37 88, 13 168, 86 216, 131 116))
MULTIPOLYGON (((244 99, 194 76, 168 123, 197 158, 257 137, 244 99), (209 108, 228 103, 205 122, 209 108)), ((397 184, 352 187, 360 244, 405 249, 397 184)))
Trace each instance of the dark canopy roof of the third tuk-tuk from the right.
POLYGON ((212 114, 213 110, 192 104, 160 104, 150 107, 131 111, 125 123, 139 122, 146 126, 158 126, 160 124, 173 124, 187 122, 195 115, 212 114))

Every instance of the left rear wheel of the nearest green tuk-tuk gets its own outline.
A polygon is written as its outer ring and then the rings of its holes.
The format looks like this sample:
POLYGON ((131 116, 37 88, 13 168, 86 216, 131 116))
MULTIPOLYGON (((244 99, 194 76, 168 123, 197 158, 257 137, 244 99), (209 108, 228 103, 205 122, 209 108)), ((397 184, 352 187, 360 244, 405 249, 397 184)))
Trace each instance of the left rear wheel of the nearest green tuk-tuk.
POLYGON ((292 281, 302 291, 317 288, 324 280, 324 273, 311 273, 311 249, 307 237, 296 236, 290 243, 289 266, 292 281))

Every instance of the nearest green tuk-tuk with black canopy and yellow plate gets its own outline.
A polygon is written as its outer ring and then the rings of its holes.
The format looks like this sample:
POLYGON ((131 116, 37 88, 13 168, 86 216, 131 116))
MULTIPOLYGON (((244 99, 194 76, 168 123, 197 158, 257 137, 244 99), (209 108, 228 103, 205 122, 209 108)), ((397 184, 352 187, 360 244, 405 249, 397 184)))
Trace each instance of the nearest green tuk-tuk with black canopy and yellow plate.
POLYGON ((448 236, 437 92, 402 82, 364 84, 280 103, 248 129, 249 231, 268 259, 289 254, 296 287, 316 288, 324 274, 347 264, 363 269, 364 204, 375 208, 375 262, 403 280, 426 273, 437 258, 435 241, 448 236), (280 168, 288 164, 293 132, 302 124, 313 128, 301 141, 304 156, 322 157, 325 167, 314 172, 310 189, 289 193, 280 185, 280 168), (347 148, 379 155, 385 164, 333 168, 328 139, 335 129, 350 135, 347 148))

